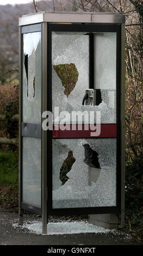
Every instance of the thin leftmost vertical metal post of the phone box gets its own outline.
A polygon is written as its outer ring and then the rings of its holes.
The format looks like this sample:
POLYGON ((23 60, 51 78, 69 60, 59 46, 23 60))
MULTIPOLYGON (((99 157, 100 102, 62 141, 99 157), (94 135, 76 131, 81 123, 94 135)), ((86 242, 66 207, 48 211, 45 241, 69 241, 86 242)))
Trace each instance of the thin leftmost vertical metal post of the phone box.
POLYGON ((21 209, 21 201, 22 201, 22 169, 21 169, 21 147, 22 147, 22 142, 21 142, 21 120, 22 120, 22 40, 21 40, 21 26, 19 28, 19 178, 18 178, 18 192, 19 192, 19 199, 18 199, 18 224, 22 225, 23 224, 23 210, 21 209))

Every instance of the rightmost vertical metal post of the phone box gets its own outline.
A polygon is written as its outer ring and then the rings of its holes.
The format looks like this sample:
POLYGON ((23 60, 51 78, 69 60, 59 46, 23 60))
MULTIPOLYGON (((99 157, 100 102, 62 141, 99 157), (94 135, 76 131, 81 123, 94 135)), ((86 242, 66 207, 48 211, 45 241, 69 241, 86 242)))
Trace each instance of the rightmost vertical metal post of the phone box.
POLYGON ((125 223, 125 23, 121 25, 121 227, 125 223))

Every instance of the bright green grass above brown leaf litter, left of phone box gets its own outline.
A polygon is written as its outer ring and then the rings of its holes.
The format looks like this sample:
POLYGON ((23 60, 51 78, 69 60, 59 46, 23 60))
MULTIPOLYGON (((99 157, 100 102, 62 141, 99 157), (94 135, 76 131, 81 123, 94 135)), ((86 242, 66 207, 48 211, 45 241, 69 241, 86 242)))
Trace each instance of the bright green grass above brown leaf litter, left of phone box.
POLYGON ((0 186, 18 186, 18 153, 0 151, 0 186))

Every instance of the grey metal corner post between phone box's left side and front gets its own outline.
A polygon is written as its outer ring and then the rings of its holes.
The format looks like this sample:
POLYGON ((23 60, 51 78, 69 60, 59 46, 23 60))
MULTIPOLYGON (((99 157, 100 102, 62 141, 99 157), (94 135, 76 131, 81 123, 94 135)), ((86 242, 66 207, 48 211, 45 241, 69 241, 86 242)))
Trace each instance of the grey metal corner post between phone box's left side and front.
MULTIPOLYGON (((42 23, 42 113, 47 111, 47 22, 42 23)), ((47 131, 42 130, 42 234, 47 234, 47 131)))

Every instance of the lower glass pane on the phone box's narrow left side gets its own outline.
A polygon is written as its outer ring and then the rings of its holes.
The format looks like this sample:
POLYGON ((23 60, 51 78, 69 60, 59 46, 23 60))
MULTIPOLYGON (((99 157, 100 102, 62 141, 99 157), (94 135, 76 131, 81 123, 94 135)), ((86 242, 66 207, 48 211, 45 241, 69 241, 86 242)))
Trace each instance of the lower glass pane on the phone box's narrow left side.
POLYGON ((22 202, 41 207, 41 139, 22 141, 22 202))

